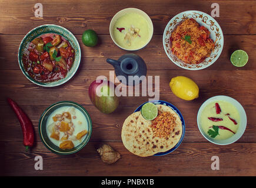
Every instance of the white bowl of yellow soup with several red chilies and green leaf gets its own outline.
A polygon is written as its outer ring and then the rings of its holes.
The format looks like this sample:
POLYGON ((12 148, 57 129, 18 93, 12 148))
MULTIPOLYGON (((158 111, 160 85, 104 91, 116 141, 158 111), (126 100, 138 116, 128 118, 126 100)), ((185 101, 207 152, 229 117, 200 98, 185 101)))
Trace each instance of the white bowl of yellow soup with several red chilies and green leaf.
POLYGON ((207 99, 198 110, 197 125, 202 136, 216 145, 229 145, 244 134, 247 116, 235 99, 218 95, 207 99))

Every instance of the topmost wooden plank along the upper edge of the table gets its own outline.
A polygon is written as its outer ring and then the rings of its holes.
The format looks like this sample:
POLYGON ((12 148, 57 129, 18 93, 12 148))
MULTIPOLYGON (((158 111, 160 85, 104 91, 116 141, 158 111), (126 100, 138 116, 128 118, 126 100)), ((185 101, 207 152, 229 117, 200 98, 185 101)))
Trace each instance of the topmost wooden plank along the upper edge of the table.
MULTIPOLYGON (((214 1, 220 5, 218 23, 226 34, 255 34, 256 21, 254 17, 256 2, 246 1, 214 1)), ((154 33, 162 35, 169 20, 187 10, 198 10, 211 14, 212 1, 165 1, 152 4, 151 1, 62 1, 61 5, 52 1, 41 1, 43 18, 34 16, 35 1, 21 2, 18 0, 1 1, 0 33, 25 34, 32 28, 44 24, 64 26, 75 34, 81 34, 85 29, 94 29, 99 34, 109 33, 109 23, 112 16, 119 10, 136 6, 147 12, 154 24, 154 33), (65 7, 65 10, 63 9, 65 7), (21 11, 22 10, 22 11, 21 11), (18 24, 17 24, 18 23, 18 24)))

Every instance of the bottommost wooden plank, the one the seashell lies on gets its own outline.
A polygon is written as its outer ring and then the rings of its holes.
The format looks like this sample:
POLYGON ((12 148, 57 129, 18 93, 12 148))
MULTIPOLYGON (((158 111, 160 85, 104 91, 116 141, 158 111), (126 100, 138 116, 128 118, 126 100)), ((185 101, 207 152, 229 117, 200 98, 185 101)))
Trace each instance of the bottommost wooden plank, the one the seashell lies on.
MULTIPOLYGON (((107 142, 108 143, 108 142, 107 142)), ((256 143, 186 143, 169 155, 139 157, 129 153, 120 142, 108 143, 122 159, 104 164, 96 149, 102 143, 89 142, 74 155, 60 156, 36 143, 32 152, 24 152, 19 142, 0 142, 5 148, 5 163, 0 174, 8 176, 255 176, 256 143), (42 156, 43 170, 35 170, 35 156, 42 156), (220 159, 220 170, 212 170, 212 156, 220 159), (93 165, 92 165, 93 164, 93 165), (250 164, 250 165, 248 165, 250 164), (147 167, 147 170, 145 170, 147 167)))

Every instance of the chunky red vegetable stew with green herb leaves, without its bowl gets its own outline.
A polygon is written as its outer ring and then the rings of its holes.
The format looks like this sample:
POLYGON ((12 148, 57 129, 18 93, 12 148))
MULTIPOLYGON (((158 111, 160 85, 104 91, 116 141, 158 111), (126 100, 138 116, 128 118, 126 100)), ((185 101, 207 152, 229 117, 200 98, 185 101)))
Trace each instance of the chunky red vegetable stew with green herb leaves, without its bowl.
POLYGON ((75 50, 61 35, 46 33, 35 38, 22 56, 24 69, 38 82, 54 82, 67 76, 75 50))

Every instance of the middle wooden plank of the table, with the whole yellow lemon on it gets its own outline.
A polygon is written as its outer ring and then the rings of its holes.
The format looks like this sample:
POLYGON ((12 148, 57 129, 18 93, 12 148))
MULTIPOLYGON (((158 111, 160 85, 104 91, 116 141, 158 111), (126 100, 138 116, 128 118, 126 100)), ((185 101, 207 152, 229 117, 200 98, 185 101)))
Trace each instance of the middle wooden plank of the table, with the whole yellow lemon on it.
MULTIPOLYGON (((2 88, 0 105, 6 105, 5 98, 8 96, 16 100, 19 105, 51 105, 51 103, 58 100, 74 100, 82 105, 91 105, 88 88, 99 75, 109 78, 109 70, 94 70, 93 75, 91 70, 79 70, 77 75, 64 85, 55 88, 43 88, 26 79, 20 70, 0 70, 2 80, 0 84, 2 88)), ((200 70, 200 73, 187 70, 179 70, 178 72, 177 70, 149 70, 147 75, 153 76, 153 84, 155 83, 155 76, 160 76, 160 99, 176 105, 195 103, 199 107, 211 96, 228 95, 237 99, 243 106, 256 106, 256 88, 250 82, 250 80, 256 79, 255 70, 200 70), (198 99, 187 102, 172 94, 169 82, 172 77, 178 75, 187 76, 197 83, 200 88, 198 99)), ((117 82, 116 84, 119 85, 117 82)), ((138 93, 140 97, 132 96, 134 97, 125 96, 121 101, 122 105, 138 106, 148 99, 154 99, 154 96, 150 97, 148 92, 145 97, 142 97, 141 92, 138 93)))

